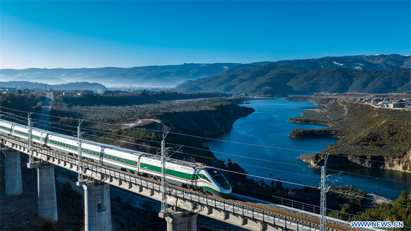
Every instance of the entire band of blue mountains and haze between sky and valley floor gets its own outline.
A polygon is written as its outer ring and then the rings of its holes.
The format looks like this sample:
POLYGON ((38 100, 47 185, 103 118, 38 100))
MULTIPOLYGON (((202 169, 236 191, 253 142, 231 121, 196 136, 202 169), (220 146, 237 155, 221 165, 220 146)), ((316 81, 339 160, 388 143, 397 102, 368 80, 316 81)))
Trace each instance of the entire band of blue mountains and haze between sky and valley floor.
MULTIPOLYGON (((319 59, 300 59, 283 61, 264 61, 249 64, 241 63, 184 63, 181 65, 142 66, 142 67, 101 67, 101 68, 28 68, 1 69, 2 82, 23 81, 43 84, 66 84, 72 82, 101 83, 111 86, 154 86, 175 87, 184 92, 213 91, 249 94, 278 92, 272 83, 282 82, 279 92, 407 92, 404 84, 409 75, 411 57, 406 55, 358 55, 343 57, 323 57, 319 59), (404 70, 407 69, 407 70, 404 70), (387 89, 378 88, 378 82, 389 81, 385 73, 392 71, 391 77, 398 78, 398 85, 387 89), (211 78, 208 78, 211 77, 211 78), (334 82, 340 79, 345 86, 325 86, 313 90, 312 82, 334 82), (384 80, 385 79, 385 80, 384 80), (253 83, 250 83, 253 82, 253 83), (205 85, 204 85, 205 83, 205 85), (301 85, 302 83, 303 85, 301 85), (253 86, 249 86, 249 84, 253 86), (348 85, 347 85, 348 84, 348 85), (246 85, 242 87, 241 85, 246 85), (354 85, 354 86, 351 86, 354 85), (358 86, 361 85, 361 86, 358 86), (370 85, 370 86, 369 86, 370 85), (264 90, 264 87, 265 90, 264 90), (263 92, 261 92, 263 91, 263 92)), ((15 83, 7 84, 14 86, 15 83)), ((18 84, 18 83, 17 83, 18 84)), ((4 85, 4 83, 2 84, 4 85)), ((25 83, 25 87, 33 88, 25 83)), ((81 84, 77 84, 77 87, 81 84)), ((9 86, 9 87, 11 87, 9 86)), ((21 87, 20 86, 20 87, 21 87)), ((56 90, 70 90, 67 85, 57 86, 56 90)), ((76 87, 76 86, 73 86, 76 87)), ((95 90, 104 90, 95 86, 95 90)), ((88 86, 84 89, 89 90, 88 86)), ((74 90, 74 89, 71 89, 74 90)))

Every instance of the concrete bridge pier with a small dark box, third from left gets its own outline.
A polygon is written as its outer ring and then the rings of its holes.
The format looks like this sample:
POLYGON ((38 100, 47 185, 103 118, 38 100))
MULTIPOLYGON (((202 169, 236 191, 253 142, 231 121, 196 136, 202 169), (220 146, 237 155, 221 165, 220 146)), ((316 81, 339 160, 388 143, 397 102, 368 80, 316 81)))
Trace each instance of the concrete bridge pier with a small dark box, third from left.
POLYGON ((89 181, 84 188, 84 230, 113 230, 111 226, 110 185, 89 181))

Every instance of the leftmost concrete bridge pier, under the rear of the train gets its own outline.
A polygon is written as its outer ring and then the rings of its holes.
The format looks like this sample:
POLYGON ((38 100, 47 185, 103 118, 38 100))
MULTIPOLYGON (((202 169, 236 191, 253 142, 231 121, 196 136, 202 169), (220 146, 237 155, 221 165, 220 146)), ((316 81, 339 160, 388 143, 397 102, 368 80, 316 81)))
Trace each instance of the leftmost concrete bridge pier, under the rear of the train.
POLYGON ((20 165, 20 152, 5 151, 5 189, 6 196, 20 196, 23 194, 22 167, 20 165))

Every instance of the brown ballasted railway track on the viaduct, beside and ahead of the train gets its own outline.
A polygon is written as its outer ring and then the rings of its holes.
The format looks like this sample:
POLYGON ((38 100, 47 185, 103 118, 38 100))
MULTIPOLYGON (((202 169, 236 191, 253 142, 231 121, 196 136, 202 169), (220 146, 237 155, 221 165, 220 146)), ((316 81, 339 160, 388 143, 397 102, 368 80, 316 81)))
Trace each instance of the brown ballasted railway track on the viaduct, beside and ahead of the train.
MULTIPOLYGON (((15 139, 15 137, 10 137, 10 138, 15 139)), ((20 141, 22 141, 23 143, 26 143, 25 140, 20 140, 20 141)), ((45 147, 37 145, 37 144, 33 144, 33 147, 40 148, 40 149, 45 149, 45 147)), ((55 150, 53 150, 53 151, 55 151, 55 150)), ((55 151, 55 152, 58 152, 58 151, 55 151)), ((66 154, 66 153, 63 153, 63 152, 59 152, 59 153, 62 154, 62 155, 65 155, 69 158, 76 158, 77 159, 77 157, 74 156, 74 155, 69 155, 69 154, 66 154)), ((113 169, 115 171, 121 172, 122 174, 129 175, 129 176, 132 176, 132 177, 137 177, 137 178, 142 179, 144 181, 152 182, 152 183, 155 183, 155 184, 160 183, 160 181, 151 179, 150 177, 145 177, 145 176, 142 176, 142 175, 133 174, 133 173, 130 173, 130 172, 127 172, 127 171, 123 171, 123 170, 120 170, 120 169, 117 169, 117 168, 101 165, 100 163, 96 163, 94 161, 89 161, 88 159, 83 159, 83 162, 86 162, 86 163, 89 163, 89 164, 92 164, 92 165, 98 165, 98 166, 101 166, 101 168, 113 169)), ((216 196, 207 195, 205 193, 198 192, 198 191, 195 191, 195 190, 192 190, 192 189, 172 185, 172 184, 169 184, 169 183, 167 183, 167 187, 178 189, 178 190, 185 191, 185 192, 189 192, 189 193, 192 193, 192 194, 201 194, 202 196, 207 196, 207 197, 213 198, 217 201, 223 201, 223 202, 227 202, 228 204, 234 204, 234 205, 237 205, 237 206, 246 206, 246 207, 249 207, 249 208, 253 208, 256 211, 267 212, 269 214, 274 214, 274 215, 278 215, 278 216, 282 216, 282 217, 287 217, 291 220, 300 221, 300 222, 307 223, 307 224, 313 224, 315 226, 320 225, 320 220, 319 219, 312 218, 312 217, 307 217, 307 216, 302 216, 302 215, 299 215, 299 214, 294 214, 293 212, 284 211, 282 209, 276 209, 276 208, 273 208, 273 207, 270 207, 270 206, 267 206, 267 205, 264 205, 264 204, 258 204, 258 203, 252 203, 252 202, 247 202, 247 201, 239 201, 239 200, 234 200, 234 199, 216 197, 216 196)), ((345 230, 354 230, 352 228, 349 228, 349 227, 346 227, 346 226, 343 226, 343 225, 339 225, 339 224, 335 224, 335 223, 331 223, 331 222, 327 222, 327 228, 328 229, 333 229, 333 230, 339 230, 339 231, 340 230, 341 231, 343 231, 343 230, 344 231, 345 230)))

